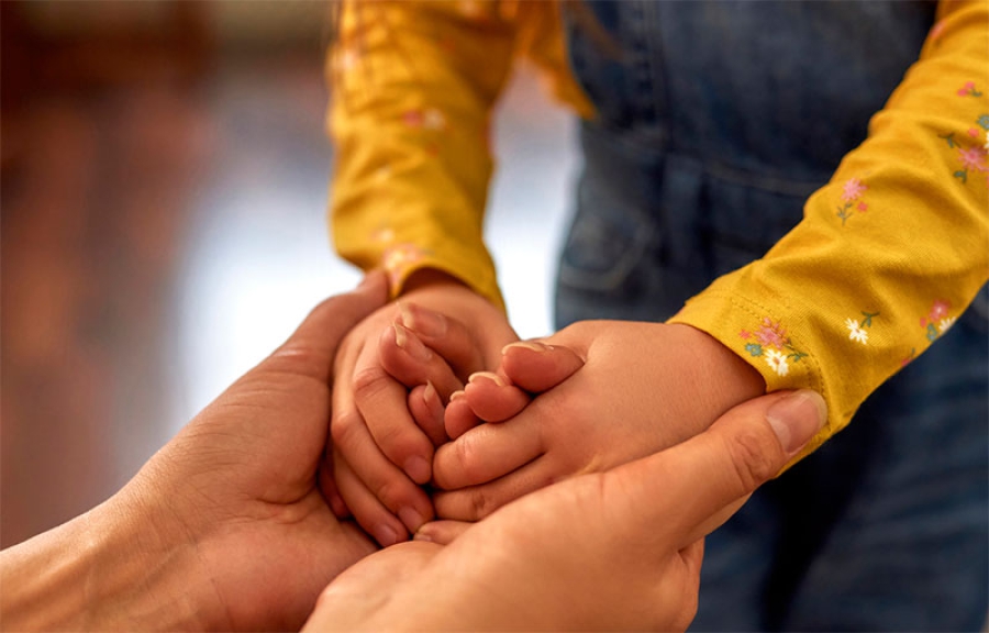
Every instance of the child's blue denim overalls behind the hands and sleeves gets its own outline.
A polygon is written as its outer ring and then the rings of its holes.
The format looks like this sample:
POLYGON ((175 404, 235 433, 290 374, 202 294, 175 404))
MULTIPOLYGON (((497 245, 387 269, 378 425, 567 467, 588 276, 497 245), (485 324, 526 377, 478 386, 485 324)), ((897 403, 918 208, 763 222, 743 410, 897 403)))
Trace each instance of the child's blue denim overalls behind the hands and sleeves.
MULTIPOLYGON (((621 54, 566 13, 599 119, 581 124, 557 327, 663 321, 765 254, 865 140, 934 18, 931 2, 582 1, 621 54)), ((986 301, 708 538, 693 630, 982 625, 986 301)))

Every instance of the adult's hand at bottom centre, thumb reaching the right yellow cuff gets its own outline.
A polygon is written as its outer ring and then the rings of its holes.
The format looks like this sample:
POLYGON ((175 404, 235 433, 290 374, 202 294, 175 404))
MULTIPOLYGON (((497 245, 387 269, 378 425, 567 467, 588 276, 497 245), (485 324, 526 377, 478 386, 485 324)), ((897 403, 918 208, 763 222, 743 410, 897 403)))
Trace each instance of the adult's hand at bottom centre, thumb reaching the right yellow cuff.
POLYGON ((480 523, 426 524, 416 537, 433 542, 378 552, 337 577, 303 630, 684 630, 702 537, 824 413, 811 391, 763 396, 682 444, 549 486, 480 523))

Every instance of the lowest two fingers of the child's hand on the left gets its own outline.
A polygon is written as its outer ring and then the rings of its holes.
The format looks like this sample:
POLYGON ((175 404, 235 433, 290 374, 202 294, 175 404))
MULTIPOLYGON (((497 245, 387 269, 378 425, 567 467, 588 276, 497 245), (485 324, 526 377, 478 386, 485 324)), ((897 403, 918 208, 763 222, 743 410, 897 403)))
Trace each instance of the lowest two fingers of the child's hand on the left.
POLYGON ((364 424, 349 429, 340 440, 334 435, 334 475, 343 501, 365 528, 381 522, 393 524, 385 518, 387 513, 398 517, 409 532, 414 532, 432 518, 429 496, 381 454, 364 424), (365 492, 377 499, 384 513, 364 499, 365 492))

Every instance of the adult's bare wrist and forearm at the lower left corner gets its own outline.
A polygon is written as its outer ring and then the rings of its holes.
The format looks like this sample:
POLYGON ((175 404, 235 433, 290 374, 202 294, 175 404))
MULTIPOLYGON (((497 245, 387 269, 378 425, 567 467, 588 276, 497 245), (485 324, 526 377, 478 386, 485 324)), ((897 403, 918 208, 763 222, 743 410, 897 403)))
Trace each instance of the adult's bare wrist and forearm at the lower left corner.
POLYGON ((119 493, 0 554, 3 626, 16 631, 209 628, 192 547, 167 543, 119 493))

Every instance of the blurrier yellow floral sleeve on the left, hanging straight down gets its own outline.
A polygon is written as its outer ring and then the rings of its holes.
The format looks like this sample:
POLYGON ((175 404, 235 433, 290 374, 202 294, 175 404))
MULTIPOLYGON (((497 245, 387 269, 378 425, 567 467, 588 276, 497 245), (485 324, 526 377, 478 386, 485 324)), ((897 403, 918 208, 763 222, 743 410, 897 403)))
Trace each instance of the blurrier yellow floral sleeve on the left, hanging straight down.
POLYGON ((512 16, 479 0, 343 0, 340 11, 326 65, 337 252, 384 266, 393 295, 429 267, 503 307, 482 222, 512 16))

